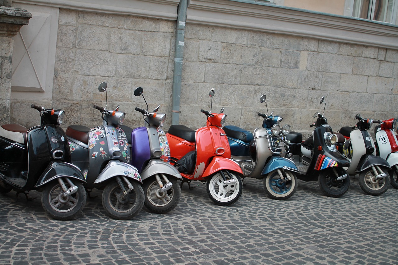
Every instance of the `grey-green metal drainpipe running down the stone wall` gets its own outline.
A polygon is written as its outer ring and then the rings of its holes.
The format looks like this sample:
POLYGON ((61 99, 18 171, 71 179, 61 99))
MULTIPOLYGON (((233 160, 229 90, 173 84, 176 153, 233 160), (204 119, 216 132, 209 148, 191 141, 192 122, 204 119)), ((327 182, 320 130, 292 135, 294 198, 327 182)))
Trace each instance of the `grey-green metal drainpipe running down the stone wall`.
POLYGON ((185 18, 188 0, 180 0, 177 14, 176 49, 174 55, 172 125, 179 124, 179 99, 181 95, 182 55, 184 51, 185 18))

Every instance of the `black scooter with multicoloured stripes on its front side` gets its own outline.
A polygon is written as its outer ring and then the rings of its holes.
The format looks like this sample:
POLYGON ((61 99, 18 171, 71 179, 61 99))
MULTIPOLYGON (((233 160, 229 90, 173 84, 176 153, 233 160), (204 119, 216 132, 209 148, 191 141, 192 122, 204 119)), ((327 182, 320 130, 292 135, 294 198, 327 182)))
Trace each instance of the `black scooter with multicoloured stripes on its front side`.
POLYGON ((291 152, 287 158, 295 162, 300 174, 298 179, 304 181, 318 181, 318 185, 326 196, 341 197, 344 195, 350 184, 350 178, 344 167, 350 162, 336 149, 337 135, 333 133, 324 117, 326 102, 322 97, 320 104, 324 103, 324 112, 316 112, 313 118, 316 121, 310 125, 315 127, 312 135, 302 141, 302 135, 297 132, 290 132, 286 135, 290 141, 291 152))

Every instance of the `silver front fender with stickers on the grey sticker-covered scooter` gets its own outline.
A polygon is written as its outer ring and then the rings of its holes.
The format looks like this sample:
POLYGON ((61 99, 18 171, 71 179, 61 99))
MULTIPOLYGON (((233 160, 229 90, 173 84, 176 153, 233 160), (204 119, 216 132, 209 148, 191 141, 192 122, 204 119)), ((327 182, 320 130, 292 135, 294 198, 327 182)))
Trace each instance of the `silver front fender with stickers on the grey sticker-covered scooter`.
POLYGON ((94 184, 101 183, 115 176, 130 177, 142 183, 141 176, 138 173, 137 168, 127 163, 120 162, 119 160, 111 160, 101 171, 96 181, 94 181, 94 184))

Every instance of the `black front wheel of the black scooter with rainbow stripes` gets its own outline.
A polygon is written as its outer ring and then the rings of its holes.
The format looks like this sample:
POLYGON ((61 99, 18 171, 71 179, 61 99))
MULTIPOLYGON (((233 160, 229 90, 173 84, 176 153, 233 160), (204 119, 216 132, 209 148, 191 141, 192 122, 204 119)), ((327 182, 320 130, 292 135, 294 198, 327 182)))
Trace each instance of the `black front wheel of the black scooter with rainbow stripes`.
MULTIPOLYGON (((337 168, 336 170, 339 175, 347 174, 343 168, 337 168)), ((331 168, 320 171, 318 177, 318 185, 322 193, 328 197, 335 198, 343 196, 348 191, 350 181, 348 174, 345 179, 337 180, 336 174, 331 168)))

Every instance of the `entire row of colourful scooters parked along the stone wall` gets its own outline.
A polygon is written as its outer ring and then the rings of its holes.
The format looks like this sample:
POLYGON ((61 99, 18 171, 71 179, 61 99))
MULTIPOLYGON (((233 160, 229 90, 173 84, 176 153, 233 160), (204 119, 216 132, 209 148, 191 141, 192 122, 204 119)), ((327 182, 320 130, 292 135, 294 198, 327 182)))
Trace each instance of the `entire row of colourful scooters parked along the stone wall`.
MULTIPOLYGON (((42 191, 41 202, 49 216, 69 220, 80 214, 92 189, 102 190, 101 201, 109 216, 127 220, 142 207, 154 213, 174 209, 181 187, 191 181, 207 183, 207 194, 217 205, 232 205, 242 195, 245 177, 263 181, 269 197, 290 198, 297 179, 318 181, 329 197, 344 195, 349 175, 359 174, 359 185, 370 195, 381 195, 391 182, 398 188, 398 138, 396 119, 373 121, 355 117, 355 127, 333 133, 324 113, 315 113, 312 135, 302 135, 281 126, 282 117, 268 114, 266 96, 260 98, 267 108, 263 127, 253 133, 236 126, 224 126, 226 115, 212 113, 215 89, 210 91, 211 109, 205 127, 192 130, 172 125, 168 133, 161 127, 166 115, 142 113, 144 127, 122 125, 125 113, 94 108, 101 112, 103 124, 92 129, 71 125, 66 132, 59 126, 64 111, 31 105, 41 115, 41 125, 26 129, 20 125, 0 127, 0 192, 11 190, 27 194, 42 191), (368 133, 373 123, 376 142, 368 133), (224 126, 224 127, 223 127, 224 126), (223 127, 223 128, 222 128, 223 127), (181 181, 181 182, 179 182, 181 181)), ((142 96, 137 88, 135 96, 142 96)), ((324 97, 320 101, 326 103, 324 97)), ((325 111, 324 107, 324 111, 325 111)))

